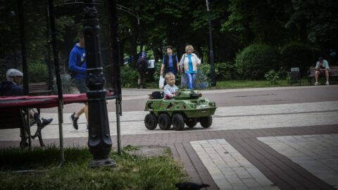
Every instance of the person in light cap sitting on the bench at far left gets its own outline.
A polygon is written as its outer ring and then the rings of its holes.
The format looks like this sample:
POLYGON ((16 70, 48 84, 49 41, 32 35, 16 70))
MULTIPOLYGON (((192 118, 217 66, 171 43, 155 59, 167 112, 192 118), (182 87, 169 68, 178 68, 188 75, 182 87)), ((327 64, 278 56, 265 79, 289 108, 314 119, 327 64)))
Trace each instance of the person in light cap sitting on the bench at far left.
MULTIPOLYGON (((23 96, 23 87, 21 87, 19 84, 23 79, 23 72, 20 72, 20 70, 16 69, 9 69, 6 72, 6 79, 7 81, 2 82, 0 84, 0 96, 23 96)), ((34 110, 29 110, 30 117, 34 118, 34 121, 30 123, 30 125, 37 124, 37 132, 35 132, 34 135, 32 135, 32 138, 35 139, 35 137, 41 138, 41 129, 46 127, 46 125, 49 125, 53 118, 44 119, 40 118, 39 113, 34 110)))

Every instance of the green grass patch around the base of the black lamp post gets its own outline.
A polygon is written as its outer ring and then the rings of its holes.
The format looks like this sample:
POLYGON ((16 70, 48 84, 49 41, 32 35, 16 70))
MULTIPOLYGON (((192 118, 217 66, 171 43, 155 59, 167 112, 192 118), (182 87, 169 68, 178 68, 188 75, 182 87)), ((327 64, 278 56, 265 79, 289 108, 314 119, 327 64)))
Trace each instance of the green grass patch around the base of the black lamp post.
MULTIPOLYGON (((130 148, 134 149, 134 148, 130 148)), ((170 152, 156 158, 123 156, 111 151, 117 167, 92 169, 88 148, 66 148, 65 165, 58 167, 59 150, 55 146, 0 149, 0 189, 175 189, 175 183, 187 180, 170 152), (15 170, 34 170, 18 173, 15 170)))

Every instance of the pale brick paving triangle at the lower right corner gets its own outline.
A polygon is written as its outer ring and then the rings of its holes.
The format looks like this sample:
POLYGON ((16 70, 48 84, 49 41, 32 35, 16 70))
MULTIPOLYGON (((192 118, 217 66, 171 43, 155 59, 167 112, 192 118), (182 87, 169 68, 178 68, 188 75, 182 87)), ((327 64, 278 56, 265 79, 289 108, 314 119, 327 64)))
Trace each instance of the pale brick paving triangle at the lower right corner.
POLYGON ((338 189, 338 134, 259 137, 258 140, 338 189))

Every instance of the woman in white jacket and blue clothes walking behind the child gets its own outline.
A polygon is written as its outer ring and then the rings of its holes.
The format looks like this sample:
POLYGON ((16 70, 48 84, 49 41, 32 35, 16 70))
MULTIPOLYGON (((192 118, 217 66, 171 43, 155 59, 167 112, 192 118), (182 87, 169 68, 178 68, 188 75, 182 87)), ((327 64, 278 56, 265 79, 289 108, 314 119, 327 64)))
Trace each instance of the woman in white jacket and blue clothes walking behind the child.
POLYGON ((180 61, 180 67, 184 68, 184 73, 187 75, 188 86, 189 89, 194 89, 196 75, 197 75, 197 67, 201 64, 201 60, 196 56, 194 51, 194 47, 192 45, 185 47, 185 52, 180 61))

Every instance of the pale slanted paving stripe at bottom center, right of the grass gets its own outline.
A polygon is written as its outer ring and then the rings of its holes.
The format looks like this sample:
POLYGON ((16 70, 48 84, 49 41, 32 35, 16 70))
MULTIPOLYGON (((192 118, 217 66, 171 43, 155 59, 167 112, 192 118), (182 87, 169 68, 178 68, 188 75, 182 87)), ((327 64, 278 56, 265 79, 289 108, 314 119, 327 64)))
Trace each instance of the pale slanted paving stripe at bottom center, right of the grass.
POLYGON ((279 189, 225 139, 190 144, 220 189, 279 189))

